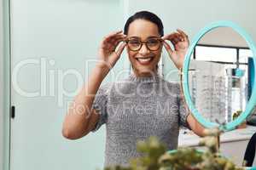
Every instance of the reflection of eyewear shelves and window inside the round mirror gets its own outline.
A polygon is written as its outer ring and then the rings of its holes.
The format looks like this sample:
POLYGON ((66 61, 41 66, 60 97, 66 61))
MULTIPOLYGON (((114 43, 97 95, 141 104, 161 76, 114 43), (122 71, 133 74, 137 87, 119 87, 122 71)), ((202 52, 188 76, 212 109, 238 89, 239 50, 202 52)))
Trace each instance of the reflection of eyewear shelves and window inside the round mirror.
POLYGON ((252 52, 232 28, 218 27, 197 43, 189 64, 189 92, 210 122, 231 122, 251 94, 252 52))

